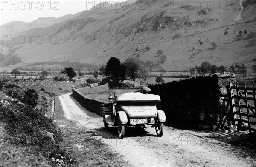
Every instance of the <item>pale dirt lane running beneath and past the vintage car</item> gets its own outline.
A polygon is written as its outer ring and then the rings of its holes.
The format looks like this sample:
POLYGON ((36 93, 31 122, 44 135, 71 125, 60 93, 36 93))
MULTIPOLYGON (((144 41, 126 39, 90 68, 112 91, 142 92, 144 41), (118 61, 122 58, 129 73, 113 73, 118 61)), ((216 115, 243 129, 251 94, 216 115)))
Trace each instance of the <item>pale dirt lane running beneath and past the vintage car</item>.
MULTIPOLYGON (((245 159, 232 153, 233 146, 211 138, 213 133, 175 130, 165 126, 163 137, 157 137, 154 128, 147 128, 143 133, 136 128, 126 128, 125 138, 120 140, 116 128, 104 130, 102 117, 81 107, 70 95, 58 96, 64 116, 77 121, 79 126, 89 128, 96 139, 123 155, 134 167, 250 167, 254 162, 256 164, 255 159, 245 159)), ((222 133, 218 135, 225 137, 222 133)))

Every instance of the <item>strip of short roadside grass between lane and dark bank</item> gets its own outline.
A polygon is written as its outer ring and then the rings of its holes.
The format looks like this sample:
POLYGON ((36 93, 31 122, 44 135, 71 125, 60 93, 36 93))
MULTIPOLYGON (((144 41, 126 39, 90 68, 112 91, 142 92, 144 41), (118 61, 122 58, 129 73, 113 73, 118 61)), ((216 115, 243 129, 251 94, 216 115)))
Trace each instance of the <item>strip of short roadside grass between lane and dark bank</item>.
POLYGON ((80 167, 123 167, 131 166, 124 161, 123 156, 107 147, 101 140, 93 138, 93 132, 85 127, 79 127, 76 122, 60 120, 58 124, 63 132, 61 147, 67 150, 71 157, 76 157, 80 167))

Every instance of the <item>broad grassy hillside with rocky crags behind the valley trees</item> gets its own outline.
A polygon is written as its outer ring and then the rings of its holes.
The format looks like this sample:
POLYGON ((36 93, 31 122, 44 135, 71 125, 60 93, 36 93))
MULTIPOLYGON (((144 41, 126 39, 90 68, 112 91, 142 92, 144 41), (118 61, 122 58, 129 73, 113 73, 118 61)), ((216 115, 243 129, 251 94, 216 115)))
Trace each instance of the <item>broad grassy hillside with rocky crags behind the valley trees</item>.
POLYGON ((221 0, 214 2, 214 7, 209 5, 212 1, 204 2, 195 7, 172 0, 138 0, 116 10, 84 11, 72 20, 19 33, 41 34, 44 41, 27 40, 15 53, 25 63, 73 61, 99 65, 112 56, 124 62, 136 54, 142 61, 157 63, 160 49, 167 57, 160 66, 166 70, 190 69, 205 61, 250 67, 256 51, 255 1, 221 0), (239 31, 244 29, 248 33, 238 40, 239 31), (146 46, 151 49, 147 51, 146 46))

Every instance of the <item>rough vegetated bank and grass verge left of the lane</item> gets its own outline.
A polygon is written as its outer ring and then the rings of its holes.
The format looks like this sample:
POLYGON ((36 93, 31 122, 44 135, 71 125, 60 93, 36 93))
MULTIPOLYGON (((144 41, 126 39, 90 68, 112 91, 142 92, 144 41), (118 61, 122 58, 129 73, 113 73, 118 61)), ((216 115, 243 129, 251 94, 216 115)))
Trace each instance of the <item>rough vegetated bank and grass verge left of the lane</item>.
POLYGON ((76 122, 63 120, 58 124, 65 126, 59 128, 49 116, 49 96, 45 94, 51 93, 0 83, 1 167, 128 165, 104 142, 94 139, 92 132, 76 127, 76 122))

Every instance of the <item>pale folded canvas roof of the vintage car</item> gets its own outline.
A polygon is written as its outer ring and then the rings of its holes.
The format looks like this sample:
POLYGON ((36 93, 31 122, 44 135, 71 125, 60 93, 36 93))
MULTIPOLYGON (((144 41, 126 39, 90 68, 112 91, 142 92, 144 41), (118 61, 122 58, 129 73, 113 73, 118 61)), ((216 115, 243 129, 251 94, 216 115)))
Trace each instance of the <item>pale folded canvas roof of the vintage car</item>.
POLYGON ((115 97, 115 101, 161 101, 160 96, 143 93, 125 93, 115 97))

